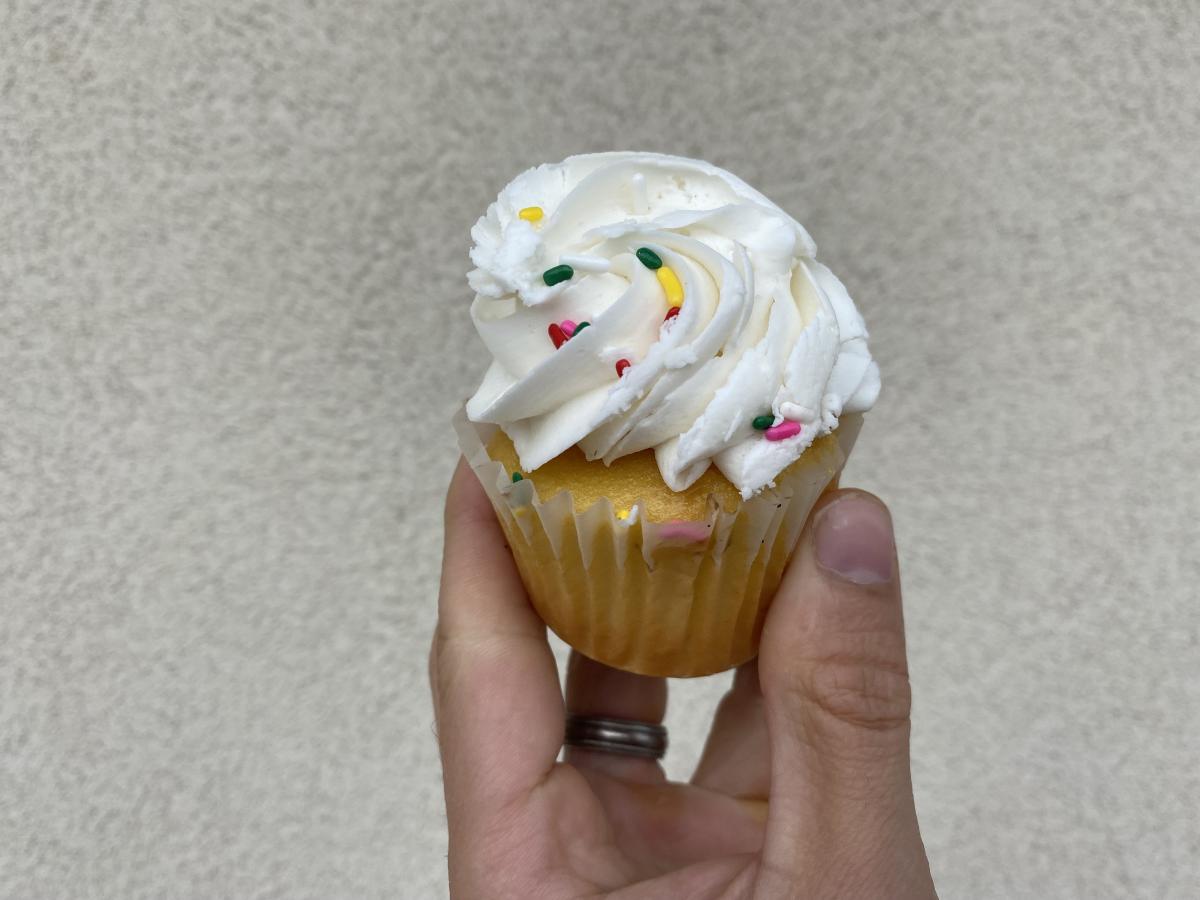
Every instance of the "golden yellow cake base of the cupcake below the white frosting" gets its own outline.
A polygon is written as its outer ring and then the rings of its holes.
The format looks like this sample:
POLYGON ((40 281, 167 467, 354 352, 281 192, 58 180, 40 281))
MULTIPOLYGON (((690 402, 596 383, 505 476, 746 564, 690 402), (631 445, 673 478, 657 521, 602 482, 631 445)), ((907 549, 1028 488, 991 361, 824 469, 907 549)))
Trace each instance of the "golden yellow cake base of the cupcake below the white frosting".
MULTIPOLYGON (((503 472, 520 472, 503 431, 488 442, 487 456, 503 472)), ((674 492, 662 488, 650 451, 606 467, 572 448, 522 481, 534 488, 539 506, 569 497, 575 515, 546 522, 534 504, 516 505, 500 522, 530 601, 571 647, 640 674, 710 674, 754 658, 763 601, 779 586, 809 509, 836 485, 844 458, 836 438, 818 439, 782 473, 781 488, 755 504, 758 515, 739 516, 742 497, 715 469, 674 492), (594 533, 580 528, 576 517, 598 506, 604 515, 594 533), (714 552, 718 517, 730 532, 720 553, 714 552), (679 528, 682 538, 668 533, 650 559, 643 557, 643 528, 709 521, 713 527, 695 532, 679 528), (547 528, 556 527, 552 541, 547 528)))

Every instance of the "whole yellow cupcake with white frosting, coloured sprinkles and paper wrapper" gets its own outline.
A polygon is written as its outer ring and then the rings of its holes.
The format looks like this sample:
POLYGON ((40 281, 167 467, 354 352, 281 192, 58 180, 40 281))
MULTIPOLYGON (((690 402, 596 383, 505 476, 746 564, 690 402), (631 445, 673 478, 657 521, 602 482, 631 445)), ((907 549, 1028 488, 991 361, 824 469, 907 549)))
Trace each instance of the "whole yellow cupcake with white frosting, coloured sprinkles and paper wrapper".
POLYGON ((659 154, 529 169, 472 238, 492 362, 455 426, 539 614, 642 674, 754 658, 880 391, 845 287, 761 193, 659 154))

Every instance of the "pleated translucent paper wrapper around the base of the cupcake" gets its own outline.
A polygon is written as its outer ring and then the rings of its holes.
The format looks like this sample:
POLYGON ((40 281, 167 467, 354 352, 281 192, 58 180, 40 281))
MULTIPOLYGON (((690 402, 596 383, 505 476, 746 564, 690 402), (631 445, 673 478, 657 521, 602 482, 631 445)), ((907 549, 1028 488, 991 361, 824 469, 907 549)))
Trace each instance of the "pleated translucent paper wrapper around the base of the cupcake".
POLYGON ((703 520, 672 522, 647 521, 641 502, 620 518, 607 499, 586 510, 575 509, 569 491, 544 499, 536 472, 514 484, 488 455, 497 426, 472 422, 464 410, 454 426, 529 599, 554 634, 616 668, 691 677, 757 654, 767 605, 809 512, 836 481, 862 416, 845 416, 835 439, 814 443, 774 488, 737 510, 710 497, 703 520))

